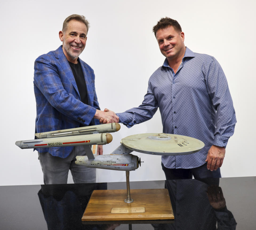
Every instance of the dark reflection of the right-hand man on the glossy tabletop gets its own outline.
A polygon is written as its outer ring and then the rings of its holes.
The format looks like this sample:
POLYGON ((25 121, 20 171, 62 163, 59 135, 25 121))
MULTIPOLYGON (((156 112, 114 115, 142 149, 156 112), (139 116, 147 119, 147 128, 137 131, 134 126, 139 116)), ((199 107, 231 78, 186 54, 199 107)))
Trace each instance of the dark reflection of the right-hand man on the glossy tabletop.
POLYGON ((236 221, 227 210, 219 179, 166 180, 175 222, 152 224, 160 229, 236 229, 236 221), (217 224, 217 227, 216 227, 217 224))

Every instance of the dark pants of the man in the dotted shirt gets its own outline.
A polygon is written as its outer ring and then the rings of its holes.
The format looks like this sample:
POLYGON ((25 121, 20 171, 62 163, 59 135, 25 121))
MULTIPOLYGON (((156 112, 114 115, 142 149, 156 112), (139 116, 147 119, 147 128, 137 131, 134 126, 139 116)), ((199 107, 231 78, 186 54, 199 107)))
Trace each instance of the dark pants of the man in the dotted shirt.
POLYGON ((207 162, 193 169, 168 169, 162 163, 162 169, 165 172, 166 180, 192 179, 192 176, 194 176, 195 179, 221 178, 220 168, 215 171, 210 171, 207 169, 207 162))

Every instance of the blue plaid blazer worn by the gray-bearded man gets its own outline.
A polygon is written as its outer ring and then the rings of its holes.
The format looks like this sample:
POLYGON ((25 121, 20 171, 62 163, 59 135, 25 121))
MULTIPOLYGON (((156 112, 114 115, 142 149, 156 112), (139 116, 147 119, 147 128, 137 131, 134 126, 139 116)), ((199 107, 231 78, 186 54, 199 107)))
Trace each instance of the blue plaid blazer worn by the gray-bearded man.
MULTIPOLYGON (((85 76, 88 105, 81 102, 73 72, 62 46, 35 60, 34 92, 37 105, 35 133, 98 125, 93 118, 99 108, 94 85, 93 69, 78 58, 85 76)), ((53 156, 66 158, 74 147, 38 148, 53 156)))

